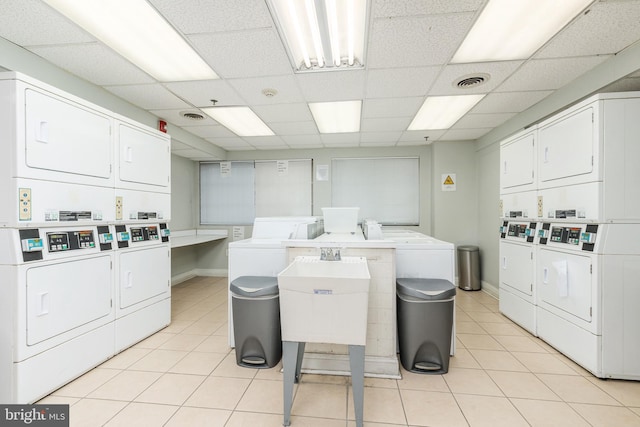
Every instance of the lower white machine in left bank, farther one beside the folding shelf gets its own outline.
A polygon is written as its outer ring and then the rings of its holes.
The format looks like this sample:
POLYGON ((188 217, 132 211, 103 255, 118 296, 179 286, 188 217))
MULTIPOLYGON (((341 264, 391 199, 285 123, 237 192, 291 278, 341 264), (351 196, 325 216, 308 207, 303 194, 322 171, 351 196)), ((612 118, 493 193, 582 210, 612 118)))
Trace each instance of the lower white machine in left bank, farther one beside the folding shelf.
POLYGON ((115 351, 171 322, 171 248, 166 223, 117 224, 115 351))

